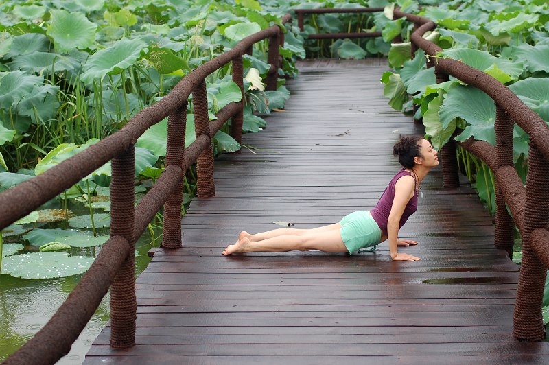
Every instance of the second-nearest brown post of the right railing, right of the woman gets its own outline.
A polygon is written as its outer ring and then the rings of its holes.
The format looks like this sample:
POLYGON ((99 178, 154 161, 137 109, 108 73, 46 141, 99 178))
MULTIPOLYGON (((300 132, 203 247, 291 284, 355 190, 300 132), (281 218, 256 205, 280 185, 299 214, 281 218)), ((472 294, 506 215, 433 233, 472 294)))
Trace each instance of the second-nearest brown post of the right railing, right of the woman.
MULTIPOLYGON (((495 106, 495 169, 513 166, 513 127, 515 123, 505 110, 495 106)), ((515 224, 505 205, 501 180, 495 180, 495 247, 506 250, 513 257, 513 233, 515 224)))

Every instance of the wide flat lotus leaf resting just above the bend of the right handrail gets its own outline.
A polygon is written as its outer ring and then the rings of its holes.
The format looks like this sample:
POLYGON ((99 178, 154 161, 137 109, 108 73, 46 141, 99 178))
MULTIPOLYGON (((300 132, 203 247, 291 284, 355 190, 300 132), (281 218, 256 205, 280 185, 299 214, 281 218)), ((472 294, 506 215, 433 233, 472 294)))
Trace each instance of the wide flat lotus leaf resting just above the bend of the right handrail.
POLYGON ((505 57, 497 58, 487 51, 479 51, 478 49, 449 49, 444 51, 442 56, 460 60, 480 71, 493 69, 493 65, 495 64, 498 69, 509 75, 513 80, 522 74, 522 62, 511 62, 505 57))

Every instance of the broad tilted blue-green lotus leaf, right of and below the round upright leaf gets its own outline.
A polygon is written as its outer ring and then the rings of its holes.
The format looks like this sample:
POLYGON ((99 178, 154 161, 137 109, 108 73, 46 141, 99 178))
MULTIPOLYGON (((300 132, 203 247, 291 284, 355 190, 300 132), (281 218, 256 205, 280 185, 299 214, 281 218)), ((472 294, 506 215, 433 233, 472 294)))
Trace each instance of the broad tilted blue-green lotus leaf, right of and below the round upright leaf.
POLYGON ((121 73, 135 64, 141 52, 146 51, 146 46, 143 40, 122 38, 114 45, 91 55, 84 64, 80 80, 89 83, 94 79, 102 80, 108 73, 121 73))

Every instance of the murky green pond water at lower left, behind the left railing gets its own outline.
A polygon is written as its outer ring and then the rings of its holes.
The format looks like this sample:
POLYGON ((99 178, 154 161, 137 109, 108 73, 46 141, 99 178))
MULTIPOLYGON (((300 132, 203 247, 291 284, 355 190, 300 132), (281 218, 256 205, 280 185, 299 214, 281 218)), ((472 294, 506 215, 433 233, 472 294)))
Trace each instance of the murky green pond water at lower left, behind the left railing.
MULTIPOLYGON (((51 204, 58 207, 59 202, 50 202, 45 207, 51 208, 51 204)), ((69 209, 74 211, 75 215, 86 212, 89 214, 89 209, 82 209, 75 202, 70 205, 69 209)), ((45 207, 41 207, 40 209, 44 209, 45 207)), ((103 212, 97 210, 97 213, 103 212)), ((65 222, 38 224, 38 228, 57 228, 64 224, 65 222)), ((27 227, 25 231, 28 231, 33 225, 25 225, 25 227, 27 227)), ((86 230, 82 232, 89 233, 86 230)), ((108 235, 108 228, 102 228, 97 233, 99 235, 108 235)), ((154 233, 156 235, 156 246, 158 246, 161 239, 161 236, 159 237, 161 229, 155 229, 154 233)), ((21 235, 5 237, 4 243, 8 242, 25 244, 21 235)), ((136 243, 136 275, 143 272, 150 262, 148 250, 152 246, 151 233, 145 231, 136 243)), ((37 247, 29 246, 26 243, 24 252, 28 250, 37 250, 37 247)), ((100 247, 86 247, 71 248, 69 253, 71 255, 94 257, 99 251, 100 247)), ((82 274, 61 279, 45 280, 19 279, 8 274, 0 275, 0 361, 19 349, 27 340, 32 338, 34 333, 38 332, 46 324, 81 278, 82 274)), ((82 364, 91 344, 106 325, 109 319, 109 312, 109 294, 107 294, 88 325, 84 328, 84 331, 80 334, 78 340, 74 342, 70 353, 62 357, 57 364, 82 364)))

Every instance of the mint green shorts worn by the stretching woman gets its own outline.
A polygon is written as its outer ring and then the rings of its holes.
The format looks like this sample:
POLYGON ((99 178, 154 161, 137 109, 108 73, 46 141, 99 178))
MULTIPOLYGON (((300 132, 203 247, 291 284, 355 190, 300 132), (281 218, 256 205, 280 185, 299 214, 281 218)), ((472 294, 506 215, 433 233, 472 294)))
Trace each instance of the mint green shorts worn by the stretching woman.
POLYGON ((382 238, 382 230, 379 229, 370 211, 355 211, 345 215, 339 224, 341 224, 341 238, 351 255, 361 248, 374 246, 373 250, 375 250, 375 246, 382 238))

